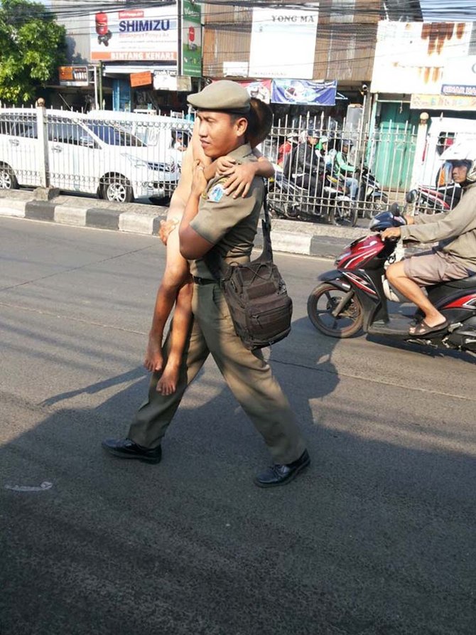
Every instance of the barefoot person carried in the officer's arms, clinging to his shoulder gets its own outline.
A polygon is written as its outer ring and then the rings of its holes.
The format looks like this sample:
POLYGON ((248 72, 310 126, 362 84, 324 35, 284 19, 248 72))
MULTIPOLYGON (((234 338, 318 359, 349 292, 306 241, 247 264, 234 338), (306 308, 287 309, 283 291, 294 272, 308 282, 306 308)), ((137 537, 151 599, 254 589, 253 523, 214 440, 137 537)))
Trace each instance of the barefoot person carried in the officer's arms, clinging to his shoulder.
POLYGON ((271 129, 271 110, 264 102, 256 99, 251 99, 251 108, 254 116, 251 117, 247 139, 254 148, 258 161, 239 164, 230 156, 222 156, 212 162, 200 145, 198 127, 195 126, 190 144, 192 147, 189 146, 185 151, 180 181, 171 199, 167 221, 161 228, 161 238, 167 247, 166 270, 157 292, 144 366, 151 372, 163 371, 157 383, 157 392, 163 395, 170 395, 175 391, 180 360, 192 319, 193 284, 188 262, 180 255, 178 224, 192 187, 193 166, 200 164, 204 168, 207 181, 215 176, 226 177, 224 187, 226 193, 232 194, 233 198, 247 196, 255 176, 269 177, 274 174, 271 163, 256 150, 256 146, 266 139, 271 129), (163 367, 163 332, 174 304, 171 351, 163 367))

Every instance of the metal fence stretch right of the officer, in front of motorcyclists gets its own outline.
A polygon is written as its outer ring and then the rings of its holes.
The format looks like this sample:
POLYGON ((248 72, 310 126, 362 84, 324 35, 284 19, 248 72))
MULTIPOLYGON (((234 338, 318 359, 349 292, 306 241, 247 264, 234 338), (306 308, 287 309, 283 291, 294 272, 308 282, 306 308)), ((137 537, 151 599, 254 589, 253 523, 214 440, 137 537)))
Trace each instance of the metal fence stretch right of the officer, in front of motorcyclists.
POLYGON ((277 119, 263 144, 276 165, 271 208, 284 218, 351 225, 403 205, 414 190, 418 212, 450 210, 461 189, 443 152, 458 139, 476 141, 476 122, 465 125, 451 132, 450 124, 432 124, 428 132, 425 123, 387 122, 365 132, 323 116, 277 119))

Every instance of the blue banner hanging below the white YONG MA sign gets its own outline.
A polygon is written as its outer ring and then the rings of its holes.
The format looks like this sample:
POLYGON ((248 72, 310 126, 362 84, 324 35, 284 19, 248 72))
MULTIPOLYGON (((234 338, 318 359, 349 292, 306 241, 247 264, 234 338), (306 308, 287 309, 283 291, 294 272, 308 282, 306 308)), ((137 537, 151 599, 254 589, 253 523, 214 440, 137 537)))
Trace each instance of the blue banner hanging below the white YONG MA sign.
POLYGON ((273 80, 271 102, 305 106, 334 106, 337 80, 309 82, 306 80, 273 80))

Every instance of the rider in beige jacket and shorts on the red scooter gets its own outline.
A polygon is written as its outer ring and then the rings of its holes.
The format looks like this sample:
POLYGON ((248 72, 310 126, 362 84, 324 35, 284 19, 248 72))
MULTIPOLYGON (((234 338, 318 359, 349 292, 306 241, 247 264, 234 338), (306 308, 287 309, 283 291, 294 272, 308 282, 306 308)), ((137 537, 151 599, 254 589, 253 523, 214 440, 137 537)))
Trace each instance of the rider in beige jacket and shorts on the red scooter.
POLYGON ((453 164, 453 180, 463 188, 460 203, 448 213, 405 217, 407 225, 382 232, 383 239, 439 241, 432 252, 395 262, 386 270, 389 282, 424 314, 419 324, 411 326, 412 336, 424 337, 448 328, 448 321, 421 287, 476 273, 476 154, 455 144, 448 160, 453 164))

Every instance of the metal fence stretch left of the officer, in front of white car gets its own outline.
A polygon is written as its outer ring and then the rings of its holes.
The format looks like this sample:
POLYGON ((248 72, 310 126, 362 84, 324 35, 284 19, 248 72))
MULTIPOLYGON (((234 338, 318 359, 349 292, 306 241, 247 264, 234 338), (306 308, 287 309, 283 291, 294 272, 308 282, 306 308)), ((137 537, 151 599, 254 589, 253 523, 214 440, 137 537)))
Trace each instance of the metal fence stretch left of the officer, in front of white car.
POLYGON ((193 123, 43 108, 0 110, 0 187, 52 186, 129 202, 171 196, 193 123))

